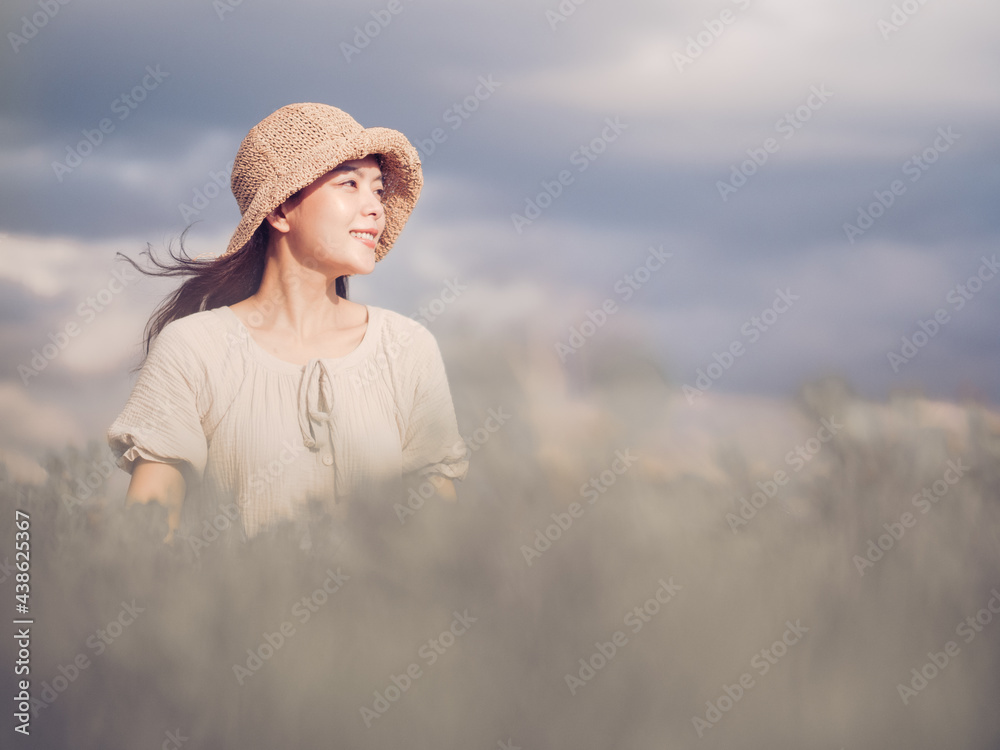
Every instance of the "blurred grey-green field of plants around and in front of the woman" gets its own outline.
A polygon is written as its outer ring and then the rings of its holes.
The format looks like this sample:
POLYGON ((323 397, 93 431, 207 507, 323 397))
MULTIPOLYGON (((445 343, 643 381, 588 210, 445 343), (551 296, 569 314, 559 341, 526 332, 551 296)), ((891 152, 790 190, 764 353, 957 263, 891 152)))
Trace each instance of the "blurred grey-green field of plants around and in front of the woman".
MULTIPOLYGON (((490 408, 511 415, 473 441, 458 503, 403 523, 391 499, 318 517, 308 545, 290 525, 167 547, 110 482, 66 502, 106 458, 99 439, 48 456, 42 484, 6 478, 0 560, 28 512, 32 691, 53 700, 29 738, 8 711, 4 746, 1000 747, 1000 615, 958 632, 1000 588, 996 413, 869 402, 834 378, 794 400, 689 405, 627 345, 582 354, 568 370, 526 345, 449 360, 463 434, 490 408), (808 444, 824 419, 841 427, 808 444), (787 460, 807 444, 808 461, 787 460), (609 469, 624 450, 635 461, 609 469), (957 460, 968 470, 921 512, 914 496, 957 460), (739 516, 778 471, 787 483, 739 516), (604 489, 584 495, 591 479, 604 489), (906 512, 862 575, 855 557, 906 512), (664 581, 676 594, 650 605, 664 581), (109 627, 133 599, 141 613, 109 627), (456 613, 474 618, 459 635, 456 613), (776 648, 789 622, 807 632, 776 648), (904 704, 897 685, 948 641, 957 656, 904 704)), ((0 592, 13 604, 12 576, 0 592)), ((5 639, 8 696, 15 658, 5 639)))

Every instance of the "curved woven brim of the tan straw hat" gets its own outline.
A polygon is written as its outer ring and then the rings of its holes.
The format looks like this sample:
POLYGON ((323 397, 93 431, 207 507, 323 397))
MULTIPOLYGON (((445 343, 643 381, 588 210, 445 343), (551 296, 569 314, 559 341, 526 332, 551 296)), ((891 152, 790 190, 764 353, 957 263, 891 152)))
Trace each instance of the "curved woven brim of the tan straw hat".
POLYGON ((276 177, 257 191, 220 257, 242 248, 267 215, 293 193, 312 184, 339 164, 370 154, 382 157, 385 229, 375 247, 376 262, 382 260, 413 212, 423 187, 423 173, 420 155, 406 136, 398 130, 379 127, 365 128, 340 141, 321 143, 295 162, 281 165, 276 177))

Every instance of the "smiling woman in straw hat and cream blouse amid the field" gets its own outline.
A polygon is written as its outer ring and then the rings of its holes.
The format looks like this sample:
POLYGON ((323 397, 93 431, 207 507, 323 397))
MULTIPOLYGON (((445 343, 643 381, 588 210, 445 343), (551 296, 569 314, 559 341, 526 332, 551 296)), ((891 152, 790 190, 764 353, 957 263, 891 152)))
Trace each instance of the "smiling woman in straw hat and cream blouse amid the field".
POLYGON ((422 182, 405 136, 327 105, 282 107, 247 134, 232 174, 242 220, 220 257, 157 263, 192 278, 151 319, 108 430, 132 474, 126 504, 165 505, 166 540, 193 487, 201 522, 225 514, 244 538, 406 485, 454 499, 467 450, 434 336, 347 299, 422 182))

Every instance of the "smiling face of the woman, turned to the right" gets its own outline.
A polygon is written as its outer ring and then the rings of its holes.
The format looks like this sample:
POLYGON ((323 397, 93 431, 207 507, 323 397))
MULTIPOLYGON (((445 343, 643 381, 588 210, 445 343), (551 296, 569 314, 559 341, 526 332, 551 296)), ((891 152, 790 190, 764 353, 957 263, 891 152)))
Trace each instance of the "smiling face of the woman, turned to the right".
POLYGON ((382 172, 374 156, 345 161, 286 201, 286 238, 331 275, 367 274, 385 229, 382 172))

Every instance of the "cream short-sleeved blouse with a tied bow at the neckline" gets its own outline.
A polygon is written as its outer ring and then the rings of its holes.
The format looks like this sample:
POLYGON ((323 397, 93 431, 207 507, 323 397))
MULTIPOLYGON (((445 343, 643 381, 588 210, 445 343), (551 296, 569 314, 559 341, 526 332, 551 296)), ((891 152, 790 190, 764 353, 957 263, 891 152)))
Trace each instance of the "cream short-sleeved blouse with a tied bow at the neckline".
POLYGON ((406 475, 464 479, 468 450, 434 335, 366 307, 353 352, 305 365, 263 349, 229 307, 172 321, 108 429, 118 466, 179 464, 188 497, 194 484, 211 498, 194 512, 235 502, 248 539, 317 500, 401 489, 406 475))

